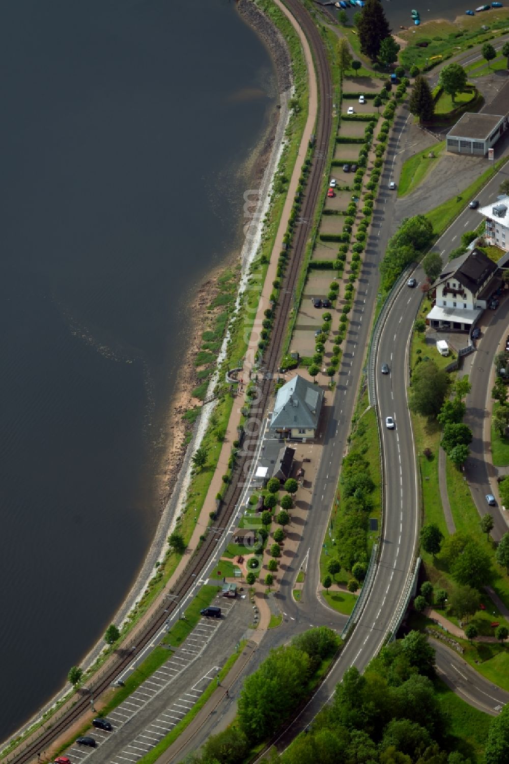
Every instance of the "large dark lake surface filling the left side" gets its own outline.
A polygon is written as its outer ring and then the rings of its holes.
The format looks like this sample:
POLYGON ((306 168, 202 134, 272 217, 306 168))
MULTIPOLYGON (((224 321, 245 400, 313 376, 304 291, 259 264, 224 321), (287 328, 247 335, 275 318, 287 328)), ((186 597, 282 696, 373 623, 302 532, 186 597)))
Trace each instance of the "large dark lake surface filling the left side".
POLYGON ((2 2, 0 69, 2 740, 143 562, 188 297, 275 96, 228 0, 2 2))

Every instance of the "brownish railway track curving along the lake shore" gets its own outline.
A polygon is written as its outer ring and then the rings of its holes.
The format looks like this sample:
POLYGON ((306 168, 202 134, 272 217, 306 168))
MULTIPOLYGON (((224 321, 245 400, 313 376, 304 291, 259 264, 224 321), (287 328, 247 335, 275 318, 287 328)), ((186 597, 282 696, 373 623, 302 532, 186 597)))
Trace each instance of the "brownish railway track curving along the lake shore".
MULTIPOLYGON (((306 243, 311 232, 311 221, 313 219, 314 209, 319 200, 318 195, 321 190, 325 163, 327 161, 330 130, 332 128, 332 80, 320 33, 314 24, 313 19, 308 14, 308 11, 301 5, 300 0, 283 0, 283 2, 285 2, 288 10, 291 11, 292 15, 297 19, 308 38, 314 56, 319 104, 317 125, 315 129, 314 155, 311 161, 311 170, 308 175, 308 185, 305 189, 304 199, 301 206, 302 222, 296 225, 292 247, 289 251, 289 263, 285 277, 282 281, 282 297, 280 302, 275 306, 271 338, 269 346, 263 355, 263 367, 268 373, 263 375, 263 381, 259 390, 259 410, 266 410, 272 392, 272 374, 274 374, 278 368, 279 357, 285 337, 286 321, 290 309, 292 309, 295 285, 301 270, 306 243)), ((69 708, 69 711, 63 714, 60 719, 53 720, 53 722, 49 721, 40 731, 40 735, 35 736, 34 738, 29 738, 26 743, 21 743, 17 750, 15 749, 10 753, 8 757, 6 757, 9 764, 11 764, 11 762, 13 762, 13 764, 24 764, 24 762, 30 762, 32 759, 37 760, 37 755, 40 751, 47 749, 50 744, 53 743, 53 740, 56 740, 60 734, 64 733, 82 714, 90 711, 91 697, 97 699, 102 692, 111 686, 111 683, 115 678, 117 678, 137 654, 147 646, 150 639, 153 639, 156 633, 158 633, 172 612, 179 607, 179 600, 188 593, 192 586, 194 586, 197 577, 201 574, 208 559, 214 553, 217 546, 217 538, 221 538, 218 532, 222 533, 230 522, 230 518, 234 513, 242 490, 240 476, 246 474, 244 468, 246 462, 250 461, 254 448, 255 445, 251 442, 246 449, 243 449, 243 456, 238 461, 234 474, 232 475, 232 482, 230 484, 230 490, 225 497, 224 507, 221 509, 221 513, 217 517, 214 526, 215 533, 209 532, 205 536, 205 540, 201 544, 201 547, 190 558, 185 571, 183 571, 181 577, 172 588, 173 601, 169 602, 165 599, 158 603, 154 608, 152 617, 145 624, 143 632, 137 634, 135 638, 131 635, 130 643, 126 647, 118 649, 114 659, 108 662, 107 667, 103 672, 99 672, 99 674, 92 679, 92 682, 89 683, 89 691, 86 692, 86 694, 80 694, 76 703, 69 708), (135 643, 133 642, 133 639, 135 639, 135 643)))

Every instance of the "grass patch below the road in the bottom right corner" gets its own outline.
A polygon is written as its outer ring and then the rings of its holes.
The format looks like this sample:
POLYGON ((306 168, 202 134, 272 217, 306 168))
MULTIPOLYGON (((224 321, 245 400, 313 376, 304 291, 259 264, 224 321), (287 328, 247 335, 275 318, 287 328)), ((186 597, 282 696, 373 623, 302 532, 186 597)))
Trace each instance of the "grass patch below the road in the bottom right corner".
POLYGON ((459 751, 472 762, 481 762, 491 716, 463 701, 441 679, 435 679, 433 684, 442 711, 449 717, 449 740, 452 740, 447 747, 459 751))

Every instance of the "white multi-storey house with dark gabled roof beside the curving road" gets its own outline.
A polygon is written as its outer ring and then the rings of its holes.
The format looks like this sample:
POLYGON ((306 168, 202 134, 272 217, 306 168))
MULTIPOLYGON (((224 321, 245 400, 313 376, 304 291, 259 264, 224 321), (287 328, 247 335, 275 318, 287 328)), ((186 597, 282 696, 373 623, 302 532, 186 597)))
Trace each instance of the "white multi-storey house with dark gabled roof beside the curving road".
POLYGON ((497 270, 497 264, 479 249, 444 265, 433 285, 435 301, 427 314, 430 326, 469 331, 500 286, 500 280, 495 279, 497 270))

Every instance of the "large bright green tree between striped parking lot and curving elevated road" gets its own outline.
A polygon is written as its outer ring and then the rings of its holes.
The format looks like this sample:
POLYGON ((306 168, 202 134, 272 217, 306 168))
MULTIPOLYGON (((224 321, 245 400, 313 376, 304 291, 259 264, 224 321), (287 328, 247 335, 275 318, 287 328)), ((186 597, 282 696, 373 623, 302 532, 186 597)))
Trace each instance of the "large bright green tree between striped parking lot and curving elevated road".
POLYGON ((292 645, 271 650, 259 669, 246 677, 237 714, 251 745, 271 736, 298 707, 308 680, 309 657, 292 645))

